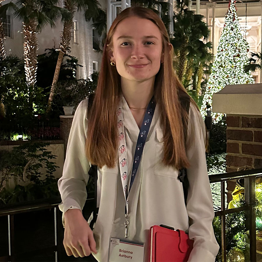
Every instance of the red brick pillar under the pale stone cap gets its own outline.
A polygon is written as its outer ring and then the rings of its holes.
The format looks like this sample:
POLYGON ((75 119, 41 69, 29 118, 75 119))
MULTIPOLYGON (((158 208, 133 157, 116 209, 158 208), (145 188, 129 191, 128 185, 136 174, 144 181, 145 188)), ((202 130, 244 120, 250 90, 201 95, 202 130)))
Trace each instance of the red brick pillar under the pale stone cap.
MULTIPOLYGON (((262 167, 262 116, 228 114, 226 124, 226 172, 262 167)), ((235 181, 227 182, 228 202, 235 181)))

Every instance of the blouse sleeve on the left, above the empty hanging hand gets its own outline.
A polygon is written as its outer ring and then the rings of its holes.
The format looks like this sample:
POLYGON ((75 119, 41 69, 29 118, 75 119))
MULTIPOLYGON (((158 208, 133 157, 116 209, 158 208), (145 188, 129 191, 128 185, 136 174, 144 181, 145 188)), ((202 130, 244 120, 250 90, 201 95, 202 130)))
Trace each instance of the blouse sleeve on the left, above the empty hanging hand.
POLYGON ((62 223, 64 227, 65 212, 74 208, 82 210, 87 197, 86 185, 90 168, 85 155, 87 106, 88 99, 83 100, 75 111, 68 137, 63 175, 58 180, 58 189, 62 199, 59 209, 63 212, 62 223))

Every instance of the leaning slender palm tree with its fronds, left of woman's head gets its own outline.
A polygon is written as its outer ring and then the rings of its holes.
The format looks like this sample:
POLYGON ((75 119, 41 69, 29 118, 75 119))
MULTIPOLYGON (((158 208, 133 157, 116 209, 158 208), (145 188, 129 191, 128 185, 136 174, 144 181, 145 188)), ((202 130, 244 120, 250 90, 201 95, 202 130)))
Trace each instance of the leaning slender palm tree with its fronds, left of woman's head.
POLYGON ((68 19, 64 20, 63 33, 61 34, 60 39, 59 55, 48 99, 47 113, 51 110, 51 103, 54 97, 55 84, 58 81, 63 57, 66 53, 70 52, 70 40, 72 36, 73 18, 76 10, 84 10, 86 22, 89 22, 91 18, 96 18, 99 15, 98 7, 100 6, 100 3, 97 0, 63 0, 63 5, 64 8, 67 9, 70 13, 70 16, 68 17, 68 19))

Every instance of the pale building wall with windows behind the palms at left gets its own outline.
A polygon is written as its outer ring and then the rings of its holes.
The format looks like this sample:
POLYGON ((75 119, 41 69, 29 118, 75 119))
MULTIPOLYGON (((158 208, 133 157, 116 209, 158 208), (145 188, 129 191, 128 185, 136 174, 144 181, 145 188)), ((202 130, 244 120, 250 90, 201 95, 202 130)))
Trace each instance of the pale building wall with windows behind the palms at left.
MULTIPOLYGON (((8 3, 6 0, 4 3, 8 3)), ((106 0, 100 0, 102 9, 106 8, 106 0)), ((62 7, 62 1, 60 3, 62 7)), ((94 71, 99 71, 102 60, 102 52, 96 50, 97 43, 101 41, 96 31, 92 28, 92 20, 86 22, 83 11, 78 11, 74 16, 74 24, 71 38, 71 56, 78 59, 78 63, 83 67, 78 67, 76 77, 78 79, 87 79, 94 71)), ((6 21, 3 23, 6 39, 4 47, 6 55, 16 54, 23 58, 23 24, 17 20, 12 13, 7 15, 6 21)), ((63 31, 63 24, 59 21, 54 28, 46 26, 40 33, 38 38, 38 54, 45 53, 46 48, 59 48, 60 36, 63 31)), ((102 41, 101 41, 102 42, 102 41)), ((102 49, 102 45, 100 44, 102 49)))

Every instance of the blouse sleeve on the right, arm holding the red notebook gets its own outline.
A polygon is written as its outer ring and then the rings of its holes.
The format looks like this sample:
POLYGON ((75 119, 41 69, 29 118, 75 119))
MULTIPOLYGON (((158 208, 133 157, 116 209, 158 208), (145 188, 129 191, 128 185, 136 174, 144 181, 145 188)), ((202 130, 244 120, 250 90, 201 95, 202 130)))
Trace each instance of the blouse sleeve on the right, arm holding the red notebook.
POLYGON ((215 216, 205 154, 206 129, 199 111, 191 104, 188 121, 186 152, 190 163, 187 169, 189 181, 187 214, 189 238, 194 246, 188 261, 215 261, 219 250, 212 221, 215 216))

